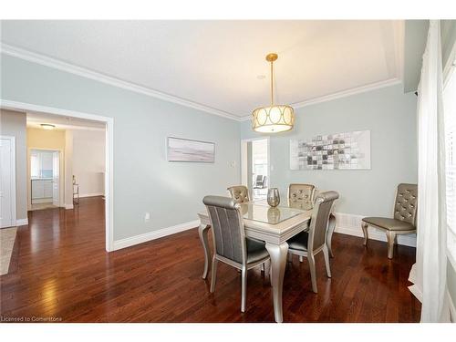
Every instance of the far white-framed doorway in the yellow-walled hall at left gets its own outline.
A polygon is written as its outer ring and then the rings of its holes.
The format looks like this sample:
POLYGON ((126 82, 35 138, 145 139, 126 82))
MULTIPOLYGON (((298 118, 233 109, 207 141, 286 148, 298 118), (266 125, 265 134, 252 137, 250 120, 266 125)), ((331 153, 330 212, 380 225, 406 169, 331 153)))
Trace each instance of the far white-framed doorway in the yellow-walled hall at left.
POLYGON ((60 206, 60 151, 30 150, 30 210, 60 206))

